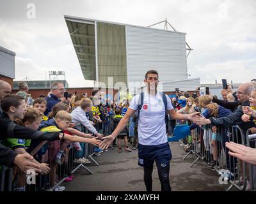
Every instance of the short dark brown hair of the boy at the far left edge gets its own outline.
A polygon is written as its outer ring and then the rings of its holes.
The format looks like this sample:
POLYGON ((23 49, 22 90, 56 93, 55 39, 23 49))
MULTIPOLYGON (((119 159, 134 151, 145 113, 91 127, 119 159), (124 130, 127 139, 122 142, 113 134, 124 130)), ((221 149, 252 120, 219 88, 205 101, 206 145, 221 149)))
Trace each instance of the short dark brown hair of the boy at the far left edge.
POLYGON ((18 106, 21 105, 22 100, 24 100, 24 98, 19 95, 7 94, 1 101, 1 108, 3 112, 8 112, 12 106, 18 108, 18 106))

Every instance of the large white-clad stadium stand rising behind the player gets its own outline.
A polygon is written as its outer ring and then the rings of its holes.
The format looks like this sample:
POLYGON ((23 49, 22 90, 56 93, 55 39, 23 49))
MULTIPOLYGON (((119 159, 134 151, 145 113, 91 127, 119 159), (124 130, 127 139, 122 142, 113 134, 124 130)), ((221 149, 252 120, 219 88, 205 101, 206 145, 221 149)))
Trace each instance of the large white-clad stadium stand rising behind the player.
POLYGON ((200 87, 200 78, 188 78, 186 33, 64 17, 86 80, 111 87, 113 78, 113 85, 123 82, 134 93, 145 73, 156 69, 163 82, 161 91, 195 91, 200 87))

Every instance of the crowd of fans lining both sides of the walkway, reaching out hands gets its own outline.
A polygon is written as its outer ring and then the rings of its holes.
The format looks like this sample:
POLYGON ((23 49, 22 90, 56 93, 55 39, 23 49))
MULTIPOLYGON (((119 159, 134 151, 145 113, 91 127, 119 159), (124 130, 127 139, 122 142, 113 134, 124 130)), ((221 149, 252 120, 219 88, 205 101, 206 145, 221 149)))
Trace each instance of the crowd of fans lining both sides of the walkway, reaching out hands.
MULTIPOLYGON (((171 99, 173 108, 182 114, 200 112, 202 117, 191 123, 185 120, 172 120, 166 114, 167 135, 173 136, 175 126, 188 123, 191 135, 182 146, 189 151, 193 149, 198 137, 195 128, 202 127, 203 141, 200 141, 200 138, 198 140, 202 146, 204 145, 209 161, 207 166, 211 170, 216 170, 220 165, 218 152, 222 147, 226 149, 225 145, 230 149, 225 152, 227 156, 235 156, 250 164, 256 164, 256 153, 253 149, 255 147, 244 145, 241 147, 236 144, 241 143, 240 140, 229 143, 230 138, 227 135, 218 134, 219 126, 232 125, 238 125, 244 135, 248 129, 251 133, 256 133, 255 88, 256 82, 241 84, 237 91, 228 85, 228 89, 221 91, 223 99, 211 95, 197 96, 194 93, 190 96, 188 92, 177 92, 171 99), (218 143, 221 143, 222 147, 218 143), (244 156, 248 152, 250 158, 244 156)), ((0 81, 0 166, 13 167, 13 181, 15 175, 19 175, 14 191, 26 191, 26 171, 30 169, 49 178, 49 186, 44 190, 64 191, 63 186, 54 187, 58 183, 58 177, 66 177, 65 181, 70 182, 74 175, 70 173, 68 163, 90 163, 84 154, 86 152, 84 143, 93 145, 93 154, 100 156, 104 151, 98 147, 100 139, 104 135, 111 134, 116 128, 129 108, 129 100, 125 99, 120 103, 103 101, 100 95, 97 95, 98 91, 93 91, 92 96, 68 94, 64 97, 65 87, 61 82, 51 84, 51 92, 46 97, 32 99, 28 91, 26 82, 20 82, 19 92, 11 94, 10 84, 0 81), (85 133, 84 128, 88 133, 85 133), (72 161, 70 154, 76 155, 72 161), (65 170, 65 175, 60 175, 60 170, 65 170)), ((112 144, 118 146, 120 153, 122 140, 124 140, 125 152, 132 151, 129 143, 132 144, 133 150, 138 146, 136 114, 131 118, 127 128, 117 137, 117 141, 112 144)), ((226 159, 227 163, 232 162, 228 157, 226 159)), ((227 164, 227 168, 228 166, 232 165, 227 164)), ((225 177, 232 179, 235 174, 236 170, 230 168, 225 177)), ((250 182, 246 189, 250 190, 250 182)))

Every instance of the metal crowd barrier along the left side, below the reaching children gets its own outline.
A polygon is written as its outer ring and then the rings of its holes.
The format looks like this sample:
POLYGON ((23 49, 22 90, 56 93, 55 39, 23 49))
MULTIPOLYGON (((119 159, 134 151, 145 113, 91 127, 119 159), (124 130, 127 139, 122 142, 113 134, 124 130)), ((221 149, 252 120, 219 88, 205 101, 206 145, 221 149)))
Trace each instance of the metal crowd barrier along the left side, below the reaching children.
MULTIPOLYGON (((95 128, 99 133, 102 133, 103 130, 104 135, 110 135, 110 122, 111 118, 109 117, 102 124, 96 124, 95 128), (104 129, 102 129, 102 127, 104 127, 104 129)), ((83 133, 89 133, 88 129, 84 128, 84 126, 77 129, 83 133)), ((17 166, 14 168, 0 166, 0 191, 15 191, 17 187, 23 186, 26 187, 26 191, 53 191, 78 169, 84 169, 89 173, 93 173, 93 171, 87 167, 87 163, 90 163, 89 159, 99 166, 99 163, 92 157, 95 156, 95 152, 93 151, 93 145, 90 143, 80 143, 82 147, 81 151, 76 150, 72 143, 65 143, 67 147, 65 148, 63 157, 61 157, 61 164, 56 164, 56 152, 58 152, 61 145, 63 145, 63 143, 61 144, 60 140, 56 140, 52 142, 44 141, 36 143, 36 145, 34 144, 33 147, 31 147, 33 150, 31 150, 30 154, 35 157, 36 161, 49 164, 51 171, 47 175, 36 175, 34 178, 33 175, 22 173, 17 166), (83 159, 85 162, 80 162, 79 159, 83 159), (58 179, 56 179, 57 177, 58 179), (35 182, 33 182, 33 178, 35 182), (29 180, 31 184, 28 184, 29 180)), ((111 148, 113 149, 112 146, 111 148)))

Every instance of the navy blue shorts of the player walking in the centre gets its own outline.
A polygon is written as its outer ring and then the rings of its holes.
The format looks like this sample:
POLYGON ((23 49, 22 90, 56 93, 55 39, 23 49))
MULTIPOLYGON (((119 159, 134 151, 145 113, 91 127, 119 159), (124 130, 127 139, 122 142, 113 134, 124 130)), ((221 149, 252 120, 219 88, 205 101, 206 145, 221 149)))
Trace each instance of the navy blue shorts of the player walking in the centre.
POLYGON ((169 164, 172 159, 172 151, 169 143, 161 145, 138 145, 140 166, 150 167, 154 161, 160 164, 169 164))

